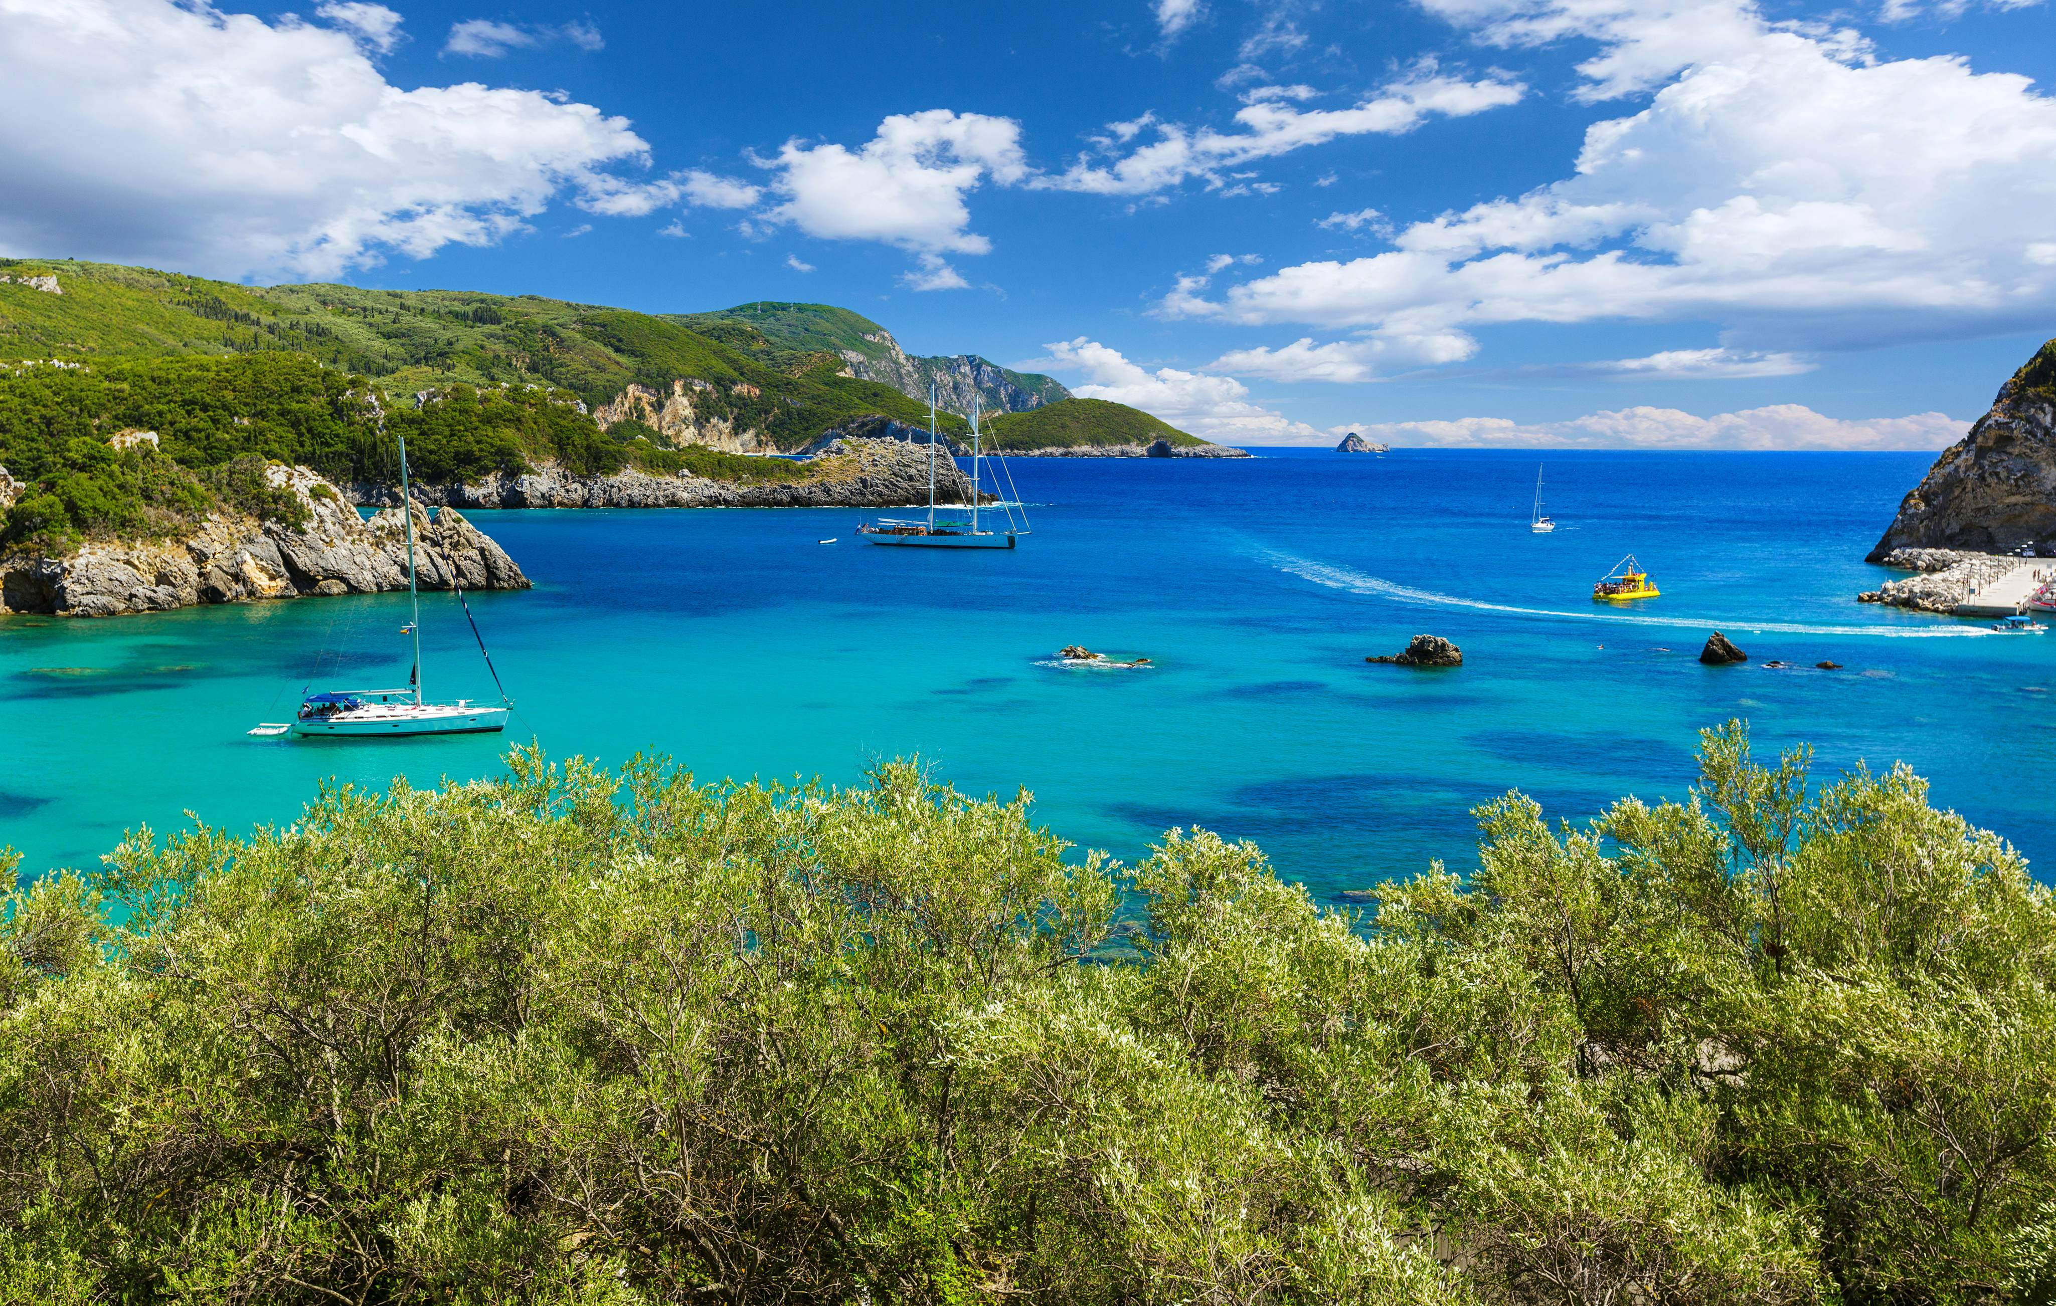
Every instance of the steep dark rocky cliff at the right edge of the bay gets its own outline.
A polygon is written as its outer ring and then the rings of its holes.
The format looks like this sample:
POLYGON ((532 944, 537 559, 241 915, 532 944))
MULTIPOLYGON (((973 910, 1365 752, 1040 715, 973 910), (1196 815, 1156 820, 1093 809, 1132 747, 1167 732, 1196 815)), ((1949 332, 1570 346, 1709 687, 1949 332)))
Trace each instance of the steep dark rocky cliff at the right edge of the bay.
POLYGON ((2056 341, 2015 372, 1992 411, 1943 450, 1900 503, 1871 563, 1894 548, 2056 552, 2056 341))

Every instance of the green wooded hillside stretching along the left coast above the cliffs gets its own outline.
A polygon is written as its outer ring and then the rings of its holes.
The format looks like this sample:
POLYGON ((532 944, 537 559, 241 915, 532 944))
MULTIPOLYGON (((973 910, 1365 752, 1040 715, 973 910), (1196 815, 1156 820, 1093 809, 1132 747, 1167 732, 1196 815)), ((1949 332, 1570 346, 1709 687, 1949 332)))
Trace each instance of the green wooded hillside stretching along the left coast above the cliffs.
MULTIPOLYGON (((870 318, 822 304, 757 308, 750 320, 652 316, 541 296, 253 287, 0 259, 0 468, 21 483, 0 483, 0 546, 173 536, 220 503, 263 513, 265 460, 389 483, 397 464, 376 433, 374 392, 417 474, 438 483, 537 462, 783 481, 808 472, 742 454, 800 450, 870 415, 927 421, 905 376, 843 374, 845 347, 888 370, 909 361, 870 318), (158 441, 111 450, 125 429, 158 441)), ((1063 390, 968 355, 913 361, 979 394, 1063 390)), ((958 411, 970 392, 958 394, 940 419, 950 435, 968 429, 958 411)), ((1022 417, 1034 421, 1005 427, 1016 448, 1042 431, 1055 444, 1192 441, 1098 400, 1059 398, 1022 417)))

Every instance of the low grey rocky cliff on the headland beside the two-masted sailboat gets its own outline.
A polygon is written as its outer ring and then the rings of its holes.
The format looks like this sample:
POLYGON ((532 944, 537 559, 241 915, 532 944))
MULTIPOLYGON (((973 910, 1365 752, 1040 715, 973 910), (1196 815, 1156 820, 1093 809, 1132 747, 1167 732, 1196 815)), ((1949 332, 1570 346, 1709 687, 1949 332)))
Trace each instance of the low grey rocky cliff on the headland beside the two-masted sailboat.
MULTIPOLYGON (((927 431, 921 431, 927 437, 927 431)), ((415 485, 426 503, 448 507, 903 507, 927 503, 927 450, 903 439, 849 439, 831 444, 808 481, 734 483, 681 472, 617 472, 574 476, 541 464, 518 476, 489 476, 471 485, 415 485)), ((964 503, 970 478, 954 462, 935 468, 938 497, 964 503)), ((382 485, 354 487, 360 503, 397 503, 382 485)))

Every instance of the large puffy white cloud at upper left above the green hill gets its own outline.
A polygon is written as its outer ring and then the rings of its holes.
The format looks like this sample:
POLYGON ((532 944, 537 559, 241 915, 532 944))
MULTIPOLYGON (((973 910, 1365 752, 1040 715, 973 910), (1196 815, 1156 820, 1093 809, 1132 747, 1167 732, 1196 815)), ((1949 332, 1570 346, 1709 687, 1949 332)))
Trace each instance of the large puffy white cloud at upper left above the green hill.
POLYGON ((0 0, 0 251, 335 277, 491 244, 559 195, 613 214, 668 193, 609 170, 648 166, 648 146, 592 105, 393 86, 366 55, 395 37, 374 8, 337 6, 325 27, 0 0))

